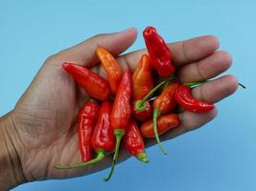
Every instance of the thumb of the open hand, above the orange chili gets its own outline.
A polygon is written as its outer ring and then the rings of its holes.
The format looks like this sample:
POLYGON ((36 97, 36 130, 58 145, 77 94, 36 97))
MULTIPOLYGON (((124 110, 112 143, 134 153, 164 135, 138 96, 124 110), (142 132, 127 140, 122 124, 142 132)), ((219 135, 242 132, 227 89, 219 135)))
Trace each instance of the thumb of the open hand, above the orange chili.
POLYGON ((95 51, 98 46, 104 47, 107 51, 116 56, 126 51, 135 41, 136 37, 137 31, 134 28, 130 28, 124 32, 96 35, 74 47, 51 56, 48 62, 60 64, 65 61, 70 61, 91 67, 99 61, 95 51))

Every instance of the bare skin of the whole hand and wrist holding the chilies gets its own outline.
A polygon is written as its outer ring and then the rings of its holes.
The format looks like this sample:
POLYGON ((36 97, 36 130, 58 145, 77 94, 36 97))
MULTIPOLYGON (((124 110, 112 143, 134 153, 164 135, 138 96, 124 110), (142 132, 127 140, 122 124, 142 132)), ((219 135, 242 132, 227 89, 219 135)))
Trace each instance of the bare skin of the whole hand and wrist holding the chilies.
MULTIPOLYGON (((94 66, 92 70, 105 77, 104 70, 97 65, 97 46, 105 47, 117 56, 128 49, 136 35, 135 29, 96 35, 75 47, 50 56, 45 61, 12 112, 0 118, 1 189, 31 180, 81 176, 110 166, 111 157, 82 169, 59 171, 53 167, 56 163, 71 164, 81 161, 77 117, 83 102, 89 98, 72 77, 61 69, 61 64, 72 61, 83 63, 87 67, 94 66), (9 180, 5 180, 7 177, 9 180)), ((182 82, 215 77, 231 65, 229 53, 217 51, 219 41, 214 36, 200 36, 171 43, 169 47, 182 82)), ((123 70, 129 67, 134 71, 135 63, 138 63, 142 53, 146 51, 121 55, 117 60, 123 70)), ((232 95, 237 87, 236 77, 225 75, 195 88, 193 96, 215 103, 232 95)), ((216 116, 216 109, 205 114, 181 111, 181 124, 161 139, 175 138, 195 130, 216 116)), ((155 142, 147 140, 146 144, 149 146, 155 142)), ((120 160, 124 159, 128 159, 128 155, 121 153, 120 160)))

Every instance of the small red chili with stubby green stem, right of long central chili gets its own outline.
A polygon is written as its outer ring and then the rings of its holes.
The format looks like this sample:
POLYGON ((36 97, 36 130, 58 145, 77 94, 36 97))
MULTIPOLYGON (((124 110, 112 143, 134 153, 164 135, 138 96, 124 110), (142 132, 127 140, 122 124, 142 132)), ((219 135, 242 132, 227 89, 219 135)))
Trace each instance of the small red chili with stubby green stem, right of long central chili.
POLYGON ((145 152, 144 141, 138 129, 138 123, 133 118, 130 118, 128 121, 128 127, 124 137, 124 144, 125 148, 128 150, 128 153, 130 153, 132 156, 143 162, 149 162, 145 152))

